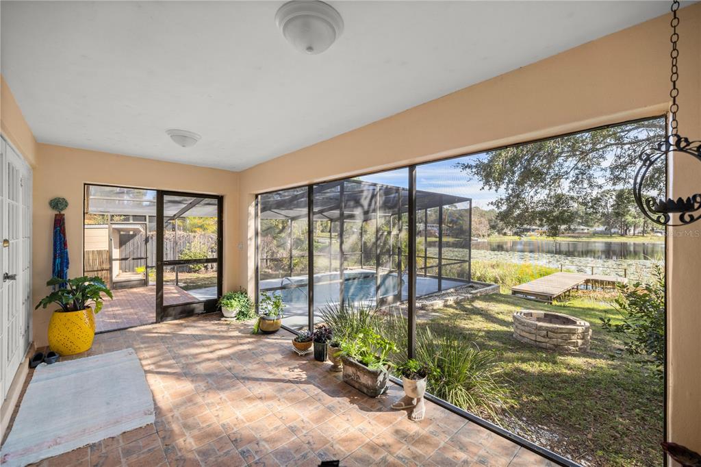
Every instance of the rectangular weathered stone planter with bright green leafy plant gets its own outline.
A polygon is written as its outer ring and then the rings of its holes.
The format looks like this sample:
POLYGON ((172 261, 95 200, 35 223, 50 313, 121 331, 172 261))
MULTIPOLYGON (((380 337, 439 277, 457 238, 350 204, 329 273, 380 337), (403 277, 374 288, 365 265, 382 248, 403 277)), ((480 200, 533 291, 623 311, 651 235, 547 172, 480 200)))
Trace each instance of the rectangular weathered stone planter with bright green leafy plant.
POLYGON ((365 328, 355 338, 341 341, 343 381, 358 391, 376 398, 387 391, 392 365, 390 352, 395 344, 372 329, 365 328))

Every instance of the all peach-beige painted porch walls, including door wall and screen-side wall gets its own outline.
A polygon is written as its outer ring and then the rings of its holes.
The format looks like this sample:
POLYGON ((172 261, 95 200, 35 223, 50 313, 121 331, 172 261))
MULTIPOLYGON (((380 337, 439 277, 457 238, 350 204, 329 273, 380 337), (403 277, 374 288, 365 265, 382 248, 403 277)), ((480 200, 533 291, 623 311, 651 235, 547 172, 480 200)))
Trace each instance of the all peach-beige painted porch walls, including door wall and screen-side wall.
MULTIPOLYGON (((701 4, 683 8, 680 16, 680 129, 701 139, 701 4)), ((625 29, 240 174, 36 144, 2 81, 3 133, 35 166, 34 302, 46 292, 43 283, 50 276, 53 196, 70 203, 69 273, 81 272, 84 182, 223 194, 225 285, 245 283, 252 290, 254 194, 662 114, 669 104, 668 22, 662 17, 625 29)), ((698 191, 700 168, 688 158, 674 161, 674 194, 698 191)), ((694 224, 672 231, 667 265, 670 438, 697 451, 701 238, 693 234, 699 229, 694 224)), ((38 345, 46 342, 48 316, 35 312, 38 345)))

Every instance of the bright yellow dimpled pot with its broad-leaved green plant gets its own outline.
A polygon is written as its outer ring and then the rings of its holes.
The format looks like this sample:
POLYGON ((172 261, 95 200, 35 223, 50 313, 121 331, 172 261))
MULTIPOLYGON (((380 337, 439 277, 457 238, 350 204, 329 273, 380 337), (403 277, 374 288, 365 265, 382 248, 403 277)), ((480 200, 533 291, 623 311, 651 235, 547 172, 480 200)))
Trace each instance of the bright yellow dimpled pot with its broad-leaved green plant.
POLYGON ((56 290, 43 297, 35 309, 60 306, 48 323, 49 347, 61 356, 87 351, 93 346, 95 314, 102 309, 102 294, 112 298, 112 292, 99 277, 54 277, 46 285, 56 290))

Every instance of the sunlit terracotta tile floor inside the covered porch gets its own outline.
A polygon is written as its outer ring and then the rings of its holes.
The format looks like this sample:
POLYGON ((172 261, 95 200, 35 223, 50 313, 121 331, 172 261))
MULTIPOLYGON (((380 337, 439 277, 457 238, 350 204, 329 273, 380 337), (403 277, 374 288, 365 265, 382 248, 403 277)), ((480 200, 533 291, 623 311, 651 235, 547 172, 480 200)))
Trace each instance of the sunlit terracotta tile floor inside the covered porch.
POLYGON ((426 419, 409 421, 388 408, 402 388, 367 398, 329 363, 292 353, 291 334, 250 330, 200 316, 98 335, 88 355, 137 351, 156 423, 39 465, 554 465, 430 402, 426 419))

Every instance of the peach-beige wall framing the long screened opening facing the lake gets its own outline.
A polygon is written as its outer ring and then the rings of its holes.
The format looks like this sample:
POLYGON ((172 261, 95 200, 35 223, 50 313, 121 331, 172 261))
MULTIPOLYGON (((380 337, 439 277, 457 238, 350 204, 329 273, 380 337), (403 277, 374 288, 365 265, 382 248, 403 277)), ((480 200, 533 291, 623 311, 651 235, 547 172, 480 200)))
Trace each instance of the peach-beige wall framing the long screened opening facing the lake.
MULTIPOLYGON (((679 15, 680 130, 699 140, 701 4, 679 15)), ((668 25, 668 16, 645 22, 241 172, 240 277, 253 290, 252 202, 261 191, 665 113, 668 25)), ((697 161, 675 161, 674 193, 696 193, 699 180, 697 161)), ((701 451, 701 238, 683 236, 698 229, 674 229, 682 236, 668 243, 667 316, 670 438, 701 451)))

